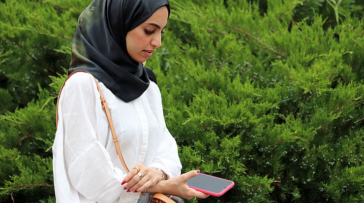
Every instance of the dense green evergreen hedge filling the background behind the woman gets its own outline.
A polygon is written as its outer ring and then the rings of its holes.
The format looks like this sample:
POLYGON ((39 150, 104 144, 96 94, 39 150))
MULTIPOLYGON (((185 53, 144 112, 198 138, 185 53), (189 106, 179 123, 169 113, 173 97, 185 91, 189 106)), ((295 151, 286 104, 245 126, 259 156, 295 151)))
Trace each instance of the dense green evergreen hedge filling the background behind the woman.
MULTIPOLYGON (((364 202, 363 1, 177 1, 147 61, 190 202, 364 202)), ((55 98, 80 0, 0 2, 0 202, 54 202, 55 98), (49 77, 52 76, 52 77, 49 77)))

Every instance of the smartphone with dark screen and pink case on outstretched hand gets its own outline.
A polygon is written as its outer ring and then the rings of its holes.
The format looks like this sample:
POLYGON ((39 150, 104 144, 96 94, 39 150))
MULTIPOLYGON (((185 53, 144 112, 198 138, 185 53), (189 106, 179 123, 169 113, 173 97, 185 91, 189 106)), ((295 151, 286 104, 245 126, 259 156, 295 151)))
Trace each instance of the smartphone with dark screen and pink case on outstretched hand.
POLYGON ((221 196, 230 188, 232 188, 232 186, 234 186, 234 182, 200 173, 197 176, 189 179, 187 181, 187 185, 205 194, 221 196))

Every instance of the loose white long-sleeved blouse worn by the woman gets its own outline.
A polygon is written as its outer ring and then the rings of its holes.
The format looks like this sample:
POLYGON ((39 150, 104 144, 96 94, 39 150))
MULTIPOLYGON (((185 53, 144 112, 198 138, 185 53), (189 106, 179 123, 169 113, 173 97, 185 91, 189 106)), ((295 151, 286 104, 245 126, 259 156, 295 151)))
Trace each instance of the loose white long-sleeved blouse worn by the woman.
MULTIPOLYGON (((125 103, 99 82, 120 149, 129 168, 137 163, 180 174, 177 145, 169 133, 158 86, 150 81, 137 99, 125 103)), ((56 202, 137 202, 140 193, 121 185, 126 172, 116 154, 95 80, 75 73, 62 90, 53 143, 56 202)))

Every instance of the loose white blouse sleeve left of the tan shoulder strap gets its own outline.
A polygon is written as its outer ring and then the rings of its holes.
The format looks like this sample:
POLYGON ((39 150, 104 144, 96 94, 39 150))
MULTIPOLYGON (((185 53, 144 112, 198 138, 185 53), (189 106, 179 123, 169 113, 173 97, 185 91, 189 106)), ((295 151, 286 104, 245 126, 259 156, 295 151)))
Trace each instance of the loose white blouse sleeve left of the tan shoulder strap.
POLYGON ((120 185, 125 174, 113 166, 97 139, 96 105, 101 104, 95 88, 92 76, 77 73, 62 90, 59 116, 63 122, 65 168, 72 186, 87 199, 115 202, 125 192, 120 185))

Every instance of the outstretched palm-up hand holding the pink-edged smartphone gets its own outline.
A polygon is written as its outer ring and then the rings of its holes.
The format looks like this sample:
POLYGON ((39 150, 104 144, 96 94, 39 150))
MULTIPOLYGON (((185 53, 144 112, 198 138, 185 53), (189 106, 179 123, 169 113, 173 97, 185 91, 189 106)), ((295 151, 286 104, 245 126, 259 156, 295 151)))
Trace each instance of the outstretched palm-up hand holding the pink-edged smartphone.
POLYGON ((206 198, 209 195, 199 192, 187 185, 187 181, 199 174, 199 171, 190 171, 188 173, 176 176, 166 181, 157 183, 156 186, 147 189, 147 192, 155 193, 160 192, 163 194, 170 194, 179 196, 185 199, 191 199, 193 197, 206 198))

